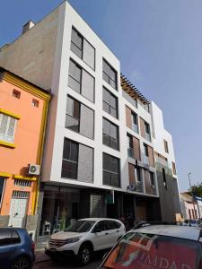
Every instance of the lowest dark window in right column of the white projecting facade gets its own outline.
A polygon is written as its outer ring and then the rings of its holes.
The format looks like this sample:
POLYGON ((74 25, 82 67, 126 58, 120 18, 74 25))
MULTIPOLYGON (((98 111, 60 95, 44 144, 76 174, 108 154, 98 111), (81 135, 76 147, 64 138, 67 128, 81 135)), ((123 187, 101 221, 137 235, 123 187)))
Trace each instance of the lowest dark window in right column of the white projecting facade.
POLYGON ((103 184, 120 187, 119 159, 103 153, 103 184))

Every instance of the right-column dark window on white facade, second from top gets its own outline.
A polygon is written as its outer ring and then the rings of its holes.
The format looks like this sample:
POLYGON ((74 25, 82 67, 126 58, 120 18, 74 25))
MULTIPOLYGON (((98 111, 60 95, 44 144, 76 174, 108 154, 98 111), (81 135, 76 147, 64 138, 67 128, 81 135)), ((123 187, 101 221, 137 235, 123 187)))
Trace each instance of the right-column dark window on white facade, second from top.
POLYGON ((118 99, 105 88, 103 88, 102 108, 111 116, 118 117, 118 99))

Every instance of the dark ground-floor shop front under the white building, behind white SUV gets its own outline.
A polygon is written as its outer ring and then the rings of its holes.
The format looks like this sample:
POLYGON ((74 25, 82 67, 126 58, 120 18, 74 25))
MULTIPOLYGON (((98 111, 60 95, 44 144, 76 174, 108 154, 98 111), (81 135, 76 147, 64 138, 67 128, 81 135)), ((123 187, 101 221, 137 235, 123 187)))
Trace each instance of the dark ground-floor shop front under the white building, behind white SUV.
POLYGON ((64 230, 75 220, 89 217, 133 223, 160 221, 159 198, 106 189, 44 186, 40 236, 64 230))

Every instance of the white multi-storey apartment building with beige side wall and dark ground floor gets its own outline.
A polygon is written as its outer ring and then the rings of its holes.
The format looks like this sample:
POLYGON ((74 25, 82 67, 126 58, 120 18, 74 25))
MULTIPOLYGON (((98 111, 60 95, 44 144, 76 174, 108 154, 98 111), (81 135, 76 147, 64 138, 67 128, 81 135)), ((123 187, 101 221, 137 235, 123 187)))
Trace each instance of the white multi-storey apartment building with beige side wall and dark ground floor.
POLYGON ((89 216, 174 221, 180 200, 162 111, 120 74, 119 59, 70 4, 27 23, 0 50, 0 65, 52 94, 41 235, 89 216))

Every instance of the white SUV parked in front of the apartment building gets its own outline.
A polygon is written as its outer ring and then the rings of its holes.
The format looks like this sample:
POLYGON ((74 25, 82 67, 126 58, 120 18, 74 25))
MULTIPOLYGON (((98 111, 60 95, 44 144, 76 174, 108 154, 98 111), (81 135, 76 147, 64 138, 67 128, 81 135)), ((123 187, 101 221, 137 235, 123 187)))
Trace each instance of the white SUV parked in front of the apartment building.
POLYGON ((75 221, 66 230, 53 234, 45 248, 50 258, 77 256, 81 265, 87 265, 93 251, 113 247, 126 233, 121 221, 88 218, 75 221))

